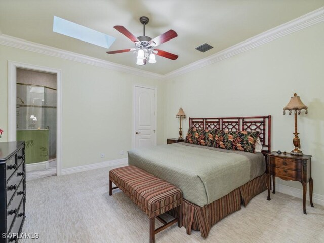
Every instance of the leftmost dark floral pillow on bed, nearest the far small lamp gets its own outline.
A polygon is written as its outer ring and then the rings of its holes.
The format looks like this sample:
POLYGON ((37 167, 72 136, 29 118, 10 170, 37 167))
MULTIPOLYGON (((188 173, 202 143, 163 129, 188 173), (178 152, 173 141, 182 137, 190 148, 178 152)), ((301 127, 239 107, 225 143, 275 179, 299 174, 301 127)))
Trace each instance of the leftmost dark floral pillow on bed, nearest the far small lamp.
POLYGON ((185 142, 213 147, 215 133, 216 133, 215 129, 204 130, 204 129, 197 129, 197 128, 189 128, 185 142))

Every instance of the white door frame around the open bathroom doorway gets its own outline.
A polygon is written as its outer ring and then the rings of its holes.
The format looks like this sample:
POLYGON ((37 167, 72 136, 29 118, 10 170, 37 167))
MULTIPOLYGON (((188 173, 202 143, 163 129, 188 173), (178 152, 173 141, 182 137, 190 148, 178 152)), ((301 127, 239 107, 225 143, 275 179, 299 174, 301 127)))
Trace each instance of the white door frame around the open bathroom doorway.
POLYGON ((33 71, 42 71, 56 74, 56 175, 62 174, 62 83, 61 70, 31 65, 27 63, 8 61, 8 141, 16 141, 17 134, 17 68, 29 69, 33 71))

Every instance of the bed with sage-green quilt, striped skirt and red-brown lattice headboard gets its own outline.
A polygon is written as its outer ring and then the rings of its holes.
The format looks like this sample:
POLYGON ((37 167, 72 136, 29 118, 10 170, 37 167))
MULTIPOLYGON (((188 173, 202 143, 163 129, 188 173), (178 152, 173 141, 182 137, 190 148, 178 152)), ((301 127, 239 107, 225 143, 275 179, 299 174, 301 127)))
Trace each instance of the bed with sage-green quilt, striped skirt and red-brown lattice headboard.
MULTIPOLYGON (((266 190, 265 154, 270 151, 271 116, 189 118, 190 128, 259 131, 261 153, 174 143, 128 152, 137 166, 174 184, 183 192, 183 225, 206 238, 222 218, 266 190)), ((175 211, 170 214, 176 216, 175 211)))

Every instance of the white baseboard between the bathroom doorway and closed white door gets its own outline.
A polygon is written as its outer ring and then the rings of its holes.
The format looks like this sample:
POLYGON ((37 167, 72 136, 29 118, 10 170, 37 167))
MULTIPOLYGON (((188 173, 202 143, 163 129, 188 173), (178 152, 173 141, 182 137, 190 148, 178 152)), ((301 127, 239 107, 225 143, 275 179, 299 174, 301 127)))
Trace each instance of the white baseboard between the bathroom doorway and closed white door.
POLYGON ((121 158, 121 159, 103 161, 103 162, 90 164, 90 165, 65 168, 62 169, 61 175, 67 175, 67 174, 72 174, 72 173, 82 172, 82 171, 89 171, 89 170, 104 168, 108 166, 126 166, 126 165, 128 165, 128 158, 121 158))

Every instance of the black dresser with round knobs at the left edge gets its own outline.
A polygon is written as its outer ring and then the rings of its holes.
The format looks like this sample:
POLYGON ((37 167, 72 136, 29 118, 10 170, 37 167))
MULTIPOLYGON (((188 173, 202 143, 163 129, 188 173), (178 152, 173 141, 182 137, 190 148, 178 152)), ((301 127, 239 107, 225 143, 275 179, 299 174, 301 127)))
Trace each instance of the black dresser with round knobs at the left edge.
POLYGON ((25 142, 0 143, 0 242, 18 242, 25 220, 25 142), (11 237, 7 237, 7 235, 11 237))

